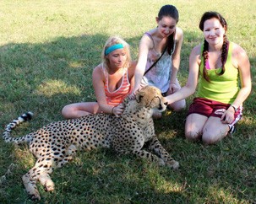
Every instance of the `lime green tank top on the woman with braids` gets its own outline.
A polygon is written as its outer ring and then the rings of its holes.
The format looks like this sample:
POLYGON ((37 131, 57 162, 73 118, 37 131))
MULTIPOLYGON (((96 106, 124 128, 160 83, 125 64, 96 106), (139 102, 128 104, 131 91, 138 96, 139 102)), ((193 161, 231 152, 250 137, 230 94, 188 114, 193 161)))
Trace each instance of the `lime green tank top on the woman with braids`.
MULTIPOLYGON (((203 51, 203 46, 201 51, 203 51)), ((228 55, 225 63, 224 74, 218 76, 216 74, 221 72, 221 67, 217 69, 207 69, 210 83, 203 77, 204 57, 201 57, 201 65, 199 67, 199 90, 197 97, 212 99, 224 104, 232 104, 237 98, 239 92, 239 74, 238 69, 232 65, 231 51, 233 43, 229 43, 228 55)))

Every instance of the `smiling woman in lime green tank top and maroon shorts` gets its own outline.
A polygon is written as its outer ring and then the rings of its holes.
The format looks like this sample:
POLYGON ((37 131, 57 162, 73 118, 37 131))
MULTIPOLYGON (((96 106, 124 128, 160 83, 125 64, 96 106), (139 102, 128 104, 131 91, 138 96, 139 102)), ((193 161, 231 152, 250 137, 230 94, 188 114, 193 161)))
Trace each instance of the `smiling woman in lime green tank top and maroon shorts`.
POLYGON ((166 96, 169 104, 199 89, 188 110, 185 136, 212 144, 232 132, 242 118, 242 103, 252 89, 250 62, 241 46, 226 38, 227 24, 220 13, 206 12, 199 23, 204 43, 189 56, 188 81, 166 96))

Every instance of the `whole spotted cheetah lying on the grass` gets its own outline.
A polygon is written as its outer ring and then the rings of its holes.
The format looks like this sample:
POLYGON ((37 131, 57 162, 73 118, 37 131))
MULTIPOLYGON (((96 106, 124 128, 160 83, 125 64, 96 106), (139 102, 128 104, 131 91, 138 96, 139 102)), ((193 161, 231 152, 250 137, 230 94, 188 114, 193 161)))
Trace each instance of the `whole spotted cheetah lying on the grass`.
POLYGON ((29 121, 33 115, 31 112, 9 123, 3 132, 5 142, 29 142, 30 152, 37 158, 35 166, 22 177, 31 199, 41 199, 36 188, 37 180, 45 186, 46 191, 54 190, 49 174, 72 160, 79 150, 112 147, 117 153, 133 153, 140 158, 177 169, 178 162, 171 158, 155 137, 153 111, 164 111, 167 105, 161 91, 146 86, 135 98, 125 99, 123 115, 118 118, 102 113, 52 122, 24 137, 11 137, 10 133, 20 123, 29 121), (142 149, 145 142, 157 156, 142 149))

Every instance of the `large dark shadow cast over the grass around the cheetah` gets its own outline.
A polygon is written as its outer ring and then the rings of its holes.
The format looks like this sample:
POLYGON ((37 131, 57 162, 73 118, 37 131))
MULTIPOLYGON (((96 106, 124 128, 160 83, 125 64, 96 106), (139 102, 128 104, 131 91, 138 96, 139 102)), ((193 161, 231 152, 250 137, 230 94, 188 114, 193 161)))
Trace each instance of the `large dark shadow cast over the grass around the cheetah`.
MULTIPOLYGON (((184 85, 188 77, 188 55, 200 41, 186 33, 182 46, 179 79, 184 85)), ((101 62, 101 51, 109 36, 82 35, 59 37, 43 44, 8 44, 0 47, 0 124, 3 127, 26 110, 35 112, 35 121, 22 131, 37 129, 49 122, 62 120, 64 105, 95 100, 91 82, 93 68, 101 62)), ((139 38, 126 39, 138 48, 139 38)), ((136 59, 133 51, 133 59, 136 59)), ((255 60, 253 61, 255 67, 255 60)), ((255 76, 255 71, 253 71, 255 76)), ((253 85, 255 88, 255 84, 253 85)), ((114 153, 82 153, 75 162, 52 174, 57 191, 44 193, 47 203, 203 203, 253 201, 255 183, 255 109, 253 99, 246 103, 247 120, 239 125, 233 137, 215 146, 185 140, 184 119, 187 110, 166 112, 155 121, 155 132, 166 150, 181 163, 172 171, 156 168, 136 158, 116 158, 114 153), (254 135, 253 135, 254 133, 254 135), (246 139, 246 140, 245 140, 246 139), (246 151, 242 151, 245 149, 246 151), (87 158, 89 156, 89 158, 87 158), (105 161, 106 159, 106 161, 105 161), (71 175, 71 176, 70 176, 71 175), (235 178, 235 179, 234 179, 235 178), (167 187, 168 184, 171 186, 167 187), (177 186, 175 186, 177 185, 177 186), (166 189, 164 189, 166 188, 166 189), (169 189, 170 188, 170 189, 169 189), (88 199, 88 200, 87 200, 88 199)), ((187 105, 191 99, 188 99, 187 105)), ((19 132, 19 130, 18 130, 19 132)), ((19 132, 20 133, 20 132, 19 132)), ((27 201, 20 176, 33 164, 14 158, 13 151, 1 141, 0 165, 19 164, 13 176, 1 186, 1 201, 27 201), (17 198, 18 197, 18 198, 17 198), (3 199, 2 199, 3 198, 3 199)), ((26 152, 26 150, 24 150, 26 152)), ((22 153, 21 153, 22 154, 22 153)), ((1 175, 5 170, 1 170, 1 175)), ((42 191, 42 189, 41 189, 42 191)), ((29 201, 28 201, 29 202, 29 201)))

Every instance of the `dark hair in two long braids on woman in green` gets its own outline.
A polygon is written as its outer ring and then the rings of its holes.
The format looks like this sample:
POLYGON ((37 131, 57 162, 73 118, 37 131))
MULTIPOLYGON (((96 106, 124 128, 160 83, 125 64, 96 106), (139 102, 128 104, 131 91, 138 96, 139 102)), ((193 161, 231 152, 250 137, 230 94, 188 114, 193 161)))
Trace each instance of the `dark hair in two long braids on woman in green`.
MULTIPOLYGON (((204 31, 204 22, 206 20, 213 19, 213 18, 218 19, 220 21, 221 25, 223 26, 223 28, 225 28, 227 30, 226 19, 224 19, 220 13, 213 12, 213 11, 205 12, 202 15, 200 23, 199 23, 199 29, 204 31)), ((217 73, 218 75, 222 75, 225 72, 225 62, 226 62, 226 56, 227 56, 227 52, 228 52, 228 46, 229 46, 229 41, 227 40, 226 35, 224 35, 223 45, 221 48, 221 50, 222 50, 222 52, 221 52, 222 67, 221 67, 221 72, 217 73)), ((202 56, 204 57, 203 76, 208 82, 210 82, 210 78, 208 77, 207 72, 206 72, 206 61, 208 59, 208 48, 209 48, 209 44, 206 40, 204 40, 204 50, 202 53, 202 56)))

